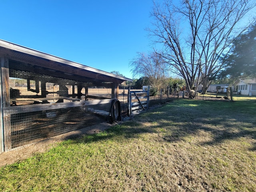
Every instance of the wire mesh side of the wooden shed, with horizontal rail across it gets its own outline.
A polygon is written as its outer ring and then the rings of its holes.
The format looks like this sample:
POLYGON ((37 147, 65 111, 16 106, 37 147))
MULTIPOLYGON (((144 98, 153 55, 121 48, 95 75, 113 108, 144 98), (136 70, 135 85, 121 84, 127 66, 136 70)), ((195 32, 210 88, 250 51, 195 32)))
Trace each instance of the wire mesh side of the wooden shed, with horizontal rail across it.
POLYGON ((108 120, 112 89, 68 77, 9 62, 10 105, 3 108, 8 150, 108 120))

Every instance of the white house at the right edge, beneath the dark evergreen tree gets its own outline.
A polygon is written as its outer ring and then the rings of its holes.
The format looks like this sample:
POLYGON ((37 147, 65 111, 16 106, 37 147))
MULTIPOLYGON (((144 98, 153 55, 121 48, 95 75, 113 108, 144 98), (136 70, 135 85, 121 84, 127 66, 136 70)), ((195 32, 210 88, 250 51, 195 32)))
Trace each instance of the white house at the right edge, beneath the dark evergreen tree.
POLYGON ((256 79, 240 79, 237 86, 241 95, 256 95, 256 79))

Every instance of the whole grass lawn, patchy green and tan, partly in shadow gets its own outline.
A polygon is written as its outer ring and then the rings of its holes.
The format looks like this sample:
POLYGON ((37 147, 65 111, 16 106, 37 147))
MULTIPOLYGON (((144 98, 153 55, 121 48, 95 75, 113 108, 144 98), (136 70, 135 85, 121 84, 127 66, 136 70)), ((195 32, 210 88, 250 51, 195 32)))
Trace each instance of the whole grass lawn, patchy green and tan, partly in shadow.
POLYGON ((256 191, 256 102, 177 99, 0 168, 1 191, 256 191))

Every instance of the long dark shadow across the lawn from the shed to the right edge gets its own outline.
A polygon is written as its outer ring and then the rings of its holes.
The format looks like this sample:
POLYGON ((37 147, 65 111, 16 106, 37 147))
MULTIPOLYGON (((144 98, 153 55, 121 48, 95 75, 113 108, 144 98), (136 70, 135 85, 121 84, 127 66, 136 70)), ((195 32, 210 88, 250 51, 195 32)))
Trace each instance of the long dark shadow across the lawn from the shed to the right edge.
POLYGON ((104 132, 84 135, 77 142, 136 138, 144 133, 162 133, 163 140, 177 142, 199 131, 211 138, 202 145, 216 145, 226 140, 252 139, 256 150, 256 104, 254 101, 204 101, 178 99, 162 107, 137 115, 133 120, 113 126, 104 132))

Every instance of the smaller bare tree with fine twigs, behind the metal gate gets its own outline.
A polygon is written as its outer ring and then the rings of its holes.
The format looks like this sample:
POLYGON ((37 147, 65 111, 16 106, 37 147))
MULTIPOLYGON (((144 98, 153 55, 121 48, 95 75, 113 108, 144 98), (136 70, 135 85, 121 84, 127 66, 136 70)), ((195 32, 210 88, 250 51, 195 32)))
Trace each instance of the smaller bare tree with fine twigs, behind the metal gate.
POLYGON ((166 65, 162 56, 156 52, 150 52, 149 54, 138 52, 129 65, 132 67, 131 72, 134 77, 148 77, 150 85, 155 88, 161 88, 162 84, 166 82, 168 65, 166 65))

